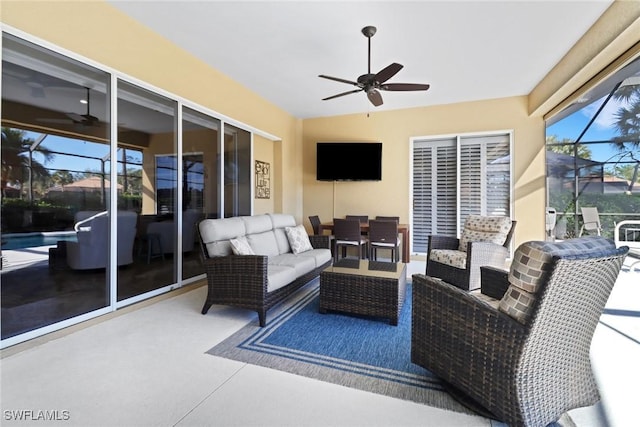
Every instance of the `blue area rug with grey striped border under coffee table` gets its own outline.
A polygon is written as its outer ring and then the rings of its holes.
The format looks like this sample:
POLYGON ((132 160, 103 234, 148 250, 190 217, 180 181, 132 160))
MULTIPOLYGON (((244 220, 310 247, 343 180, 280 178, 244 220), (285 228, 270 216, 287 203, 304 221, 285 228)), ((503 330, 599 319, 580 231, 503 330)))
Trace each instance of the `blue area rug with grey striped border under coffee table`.
POLYGON ((320 314, 318 280, 207 353, 346 387, 472 414, 429 371, 411 363, 411 287, 398 326, 387 320, 320 314))

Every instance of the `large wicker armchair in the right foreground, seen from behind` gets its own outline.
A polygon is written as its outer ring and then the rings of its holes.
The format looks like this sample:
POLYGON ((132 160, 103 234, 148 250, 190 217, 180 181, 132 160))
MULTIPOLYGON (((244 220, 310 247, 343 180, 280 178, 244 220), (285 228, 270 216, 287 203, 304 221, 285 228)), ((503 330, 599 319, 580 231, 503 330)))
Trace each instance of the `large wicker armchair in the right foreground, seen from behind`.
POLYGON ((595 404, 589 348, 627 252, 596 236, 524 243, 494 301, 413 275, 412 362, 510 426, 595 404))

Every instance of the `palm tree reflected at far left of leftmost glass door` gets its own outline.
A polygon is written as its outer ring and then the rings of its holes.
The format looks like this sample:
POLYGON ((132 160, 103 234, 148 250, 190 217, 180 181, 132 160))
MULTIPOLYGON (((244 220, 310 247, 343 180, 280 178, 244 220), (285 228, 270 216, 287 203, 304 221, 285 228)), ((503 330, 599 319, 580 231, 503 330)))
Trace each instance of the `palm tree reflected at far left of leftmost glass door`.
MULTIPOLYGON (((25 132, 20 129, 8 127, 2 128, 2 176, 1 191, 6 196, 6 189, 9 183, 19 183, 20 187, 29 179, 44 179, 49 176, 49 171, 36 160, 30 158, 31 146, 35 141, 25 137, 25 132), (25 176, 24 171, 31 171, 25 176)), ((38 150, 45 161, 53 158, 48 150, 38 150)))

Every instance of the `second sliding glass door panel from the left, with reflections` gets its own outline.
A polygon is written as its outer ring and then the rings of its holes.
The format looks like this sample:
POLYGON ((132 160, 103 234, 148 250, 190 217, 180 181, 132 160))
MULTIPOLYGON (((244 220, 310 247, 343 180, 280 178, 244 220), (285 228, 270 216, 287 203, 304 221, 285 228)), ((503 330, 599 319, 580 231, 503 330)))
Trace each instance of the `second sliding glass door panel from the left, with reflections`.
POLYGON ((118 219, 118 251, 133 254, 118 272, 118 301, 177 282, 176 117, 176 101, 118 81, 118 208, 135 214, 122 234, 118 219))

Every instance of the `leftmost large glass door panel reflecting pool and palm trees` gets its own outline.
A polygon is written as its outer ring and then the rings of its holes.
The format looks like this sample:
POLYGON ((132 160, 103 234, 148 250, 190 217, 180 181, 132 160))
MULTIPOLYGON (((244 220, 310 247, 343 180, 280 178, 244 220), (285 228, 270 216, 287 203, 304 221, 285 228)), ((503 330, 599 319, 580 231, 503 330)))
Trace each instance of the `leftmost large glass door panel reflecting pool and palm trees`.
POLYGON ((4 345, 109 305, 113 186, 110 75, 2 37, 4 345))

